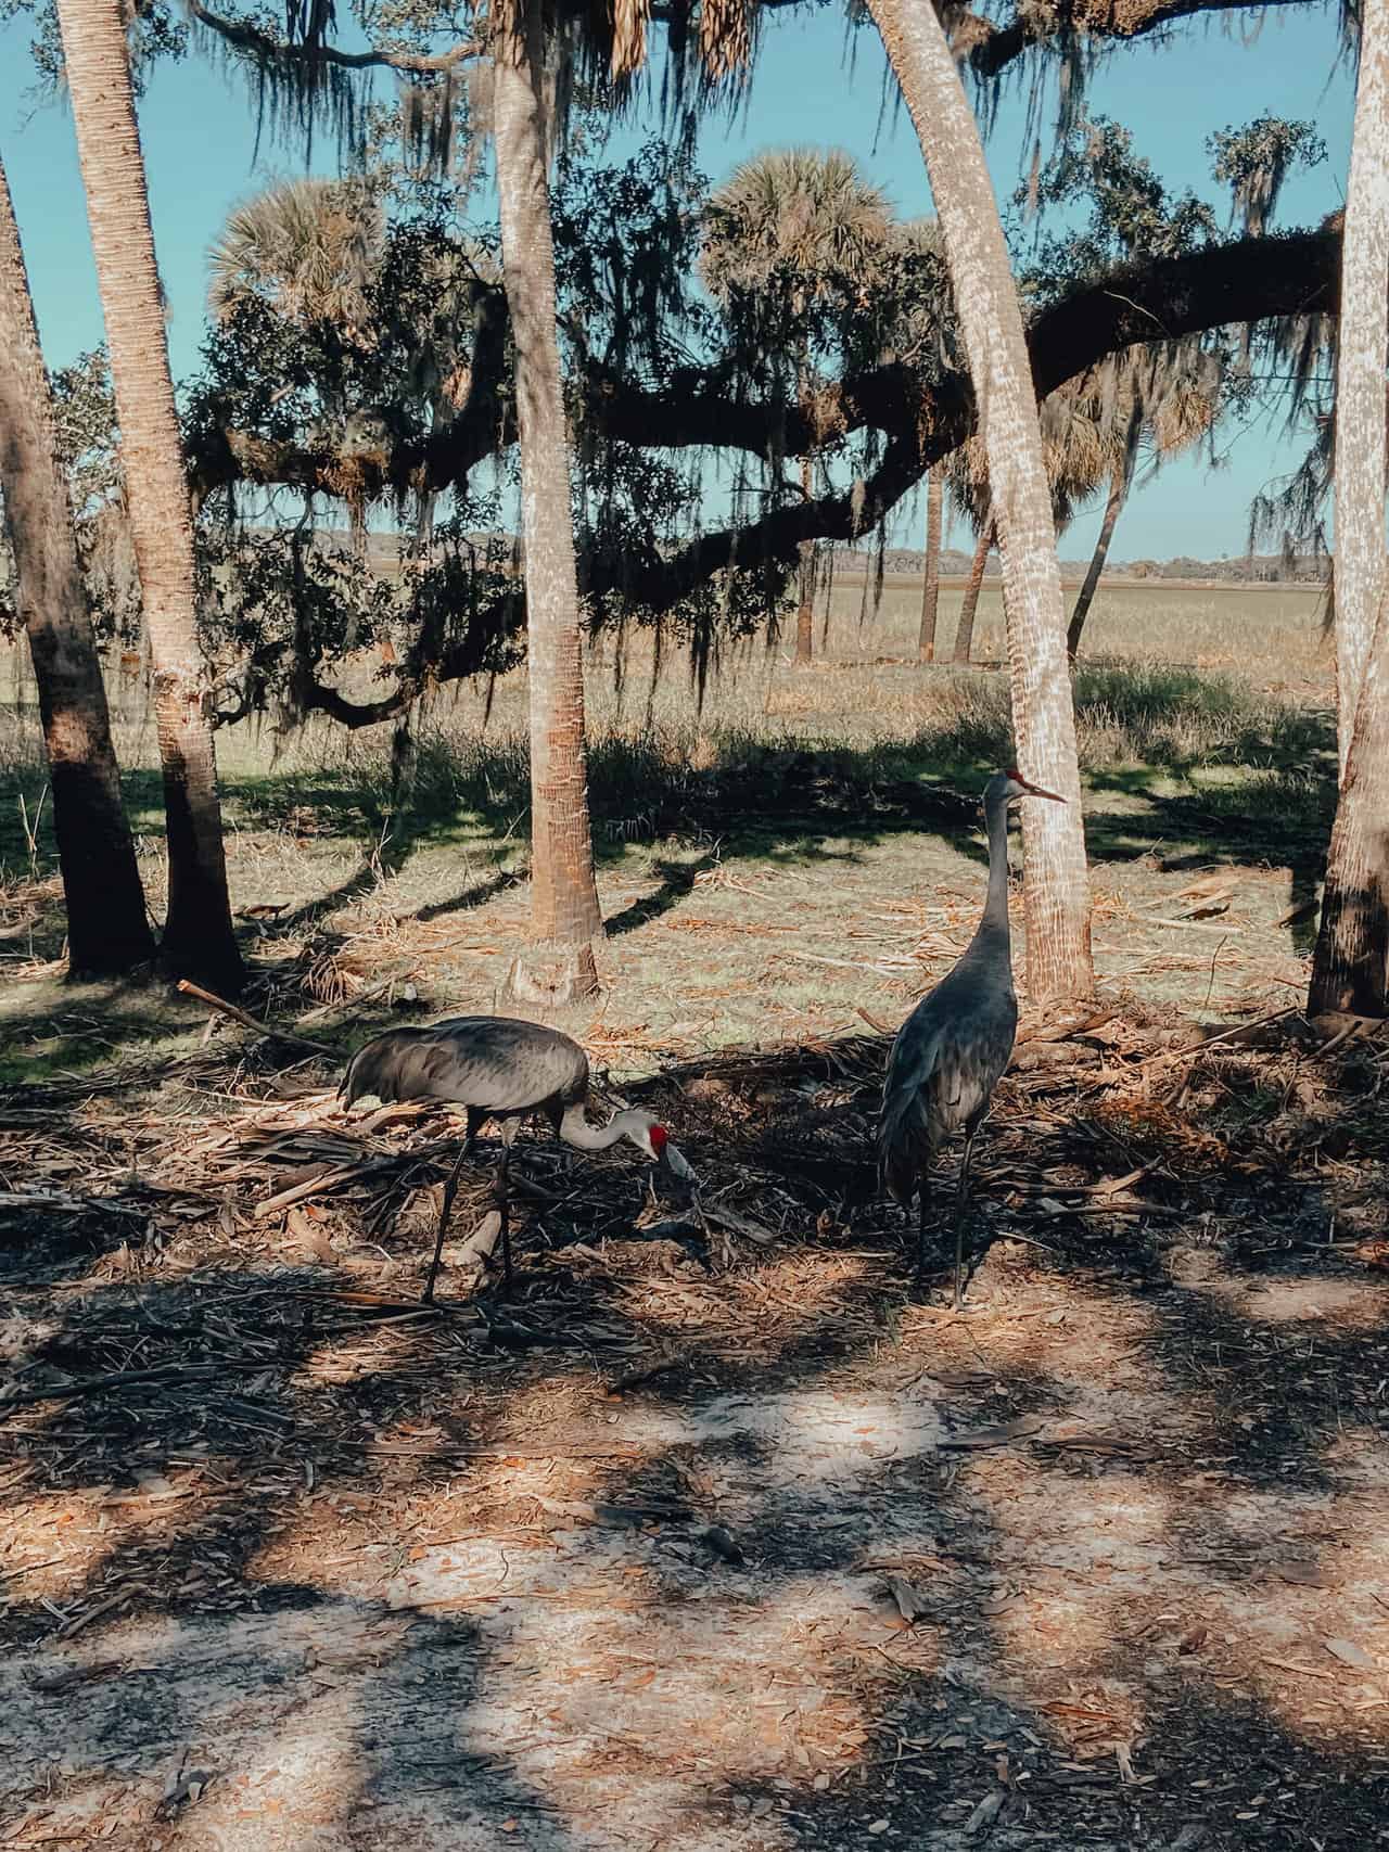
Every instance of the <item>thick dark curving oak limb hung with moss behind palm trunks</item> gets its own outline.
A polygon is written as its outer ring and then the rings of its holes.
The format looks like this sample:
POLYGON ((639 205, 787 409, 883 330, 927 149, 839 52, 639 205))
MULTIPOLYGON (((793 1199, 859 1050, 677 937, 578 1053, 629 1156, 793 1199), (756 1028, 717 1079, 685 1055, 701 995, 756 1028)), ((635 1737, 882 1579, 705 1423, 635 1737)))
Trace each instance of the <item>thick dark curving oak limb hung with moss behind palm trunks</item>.
MULTIPOLYGON (((1170 341, 1228 324, 1254 324, 1298 315, 1333 315, 1339 302, 1341 235, 1337 230, 1283 237, 1241 237, 1113 274, 1072 291, 1045 309, 1028 330, 1037 396, 1085 372, 1107 354, 1146 341, 1170 341)), ((193 456, 200 494, 250 480, 332 493, 350 465, 361 493, 443 491, 513 441, 504 387, 506 317, 489 296, 474 348, 469 404, 441 432, 394 444, 380 456, 350 459, 330 450, 278 444, 252 433, 219 433, 193 456)), ((974 430, 974 396, 965 374, 935 387, 907 367, 878 367, 833 385, 815 422, 800 406, 741 398, 719 369, 687 369, 656 391, 593 370, 582 387, 583 417, 604 435, 654 448, 737 448, 767 456, 774 443, 787 456, 822 448, 826 424, 852 433, 872 428, 889 450, 854 513, 852 494, 826 494, 769 511, 761 520, 700 535, 672 557, 643 570, 637 596, 667 607, 722 570, 733 548, 750 559, 793 550, 802 539, 848 539, 870 528, 926 469, 957 448, 974 430), (657 583, 663 582, 663 583, 657 583)), ((594 589, 615 589, 604 585, 594 589)), ((635 589, 635 587, 633 587, 635 589)))

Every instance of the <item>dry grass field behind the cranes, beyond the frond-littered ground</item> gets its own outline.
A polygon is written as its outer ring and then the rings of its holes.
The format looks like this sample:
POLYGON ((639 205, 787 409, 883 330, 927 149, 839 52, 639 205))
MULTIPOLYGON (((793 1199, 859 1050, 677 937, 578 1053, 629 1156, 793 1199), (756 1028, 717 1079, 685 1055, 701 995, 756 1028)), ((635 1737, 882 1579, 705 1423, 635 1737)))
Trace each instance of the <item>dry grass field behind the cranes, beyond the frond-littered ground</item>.
MULTIPOLYGON (((857 598, 841 583, 832 644, 870 641, 891 657, 913 641, 915 587, 889 585, 861 637, 857 598)), ((1233 626, 1226 654, 1250 648, 1256 626, 1276 630, 1280 613, 1291 626, 1295 611, 1306 650, 1315 644, 1309 593, 1148 598, 1132 641, 1167 644, 1167 656, 1193 626, 1209 632, 1217 604, 1233 626)), ((822 1035, 856 1022, 859 1006, 900 1015, 970 930, 982 863, 974 793, 1011 754, 1004 676, 863 657, 806 672, 757 646, 724 665, 700 711, 678 657, 652 696, 646 648, 632 639, 620 689, 611 646, 589 678, 615 1069, 641 1069, 654 1052, 822 1035)), ((17 672, 11 657, 0 682, 17 672)), ((1291 659, 1283 682, 1296 672, 1291 659)), ((1195 989, 1211 1009, 1259 1006, 1300 982, 1308 926, 1283 917, 1311 893, 1333 796, 1319 694, 1230 667, 1082 669, 1096 943, 1109 982, 1172 996, 1195 989), (1206 922, 1176 930, 1165 922, 1198 911, 1182 893, 1193 865, 1237 874, 1206 922)), ((491 717, 482 689, 441 696, 422 726, 409 802, 394 811, 387 730, 317 724, 280 739, 267 724, 219 739, 233 904, 269 1007, 382 1011, 404 987, 420 1009, 491 1006, 526 932, 524 698, 524 676, 494 691, 491 717)), ((157 904, 163 819, 143 704, 126 706, 119 746, 157 904)), ((100 1059, 72 993, 43 989, 61 970, 50 819, 33 869, 20 813, 22 800, 33 815, 43 789, 33 715, 11 709, 0 715, 0 969, 39 983, 11 987, 0 1004, 22 1024, 0 1056, 11 1074, 100 1059)), ((96 1015, 106 1007, 93 1002, 96 1015)), ((117 1039, 146 1056, 187 1033, 187 1013, 148 995, 115 1007, 117 1039)))

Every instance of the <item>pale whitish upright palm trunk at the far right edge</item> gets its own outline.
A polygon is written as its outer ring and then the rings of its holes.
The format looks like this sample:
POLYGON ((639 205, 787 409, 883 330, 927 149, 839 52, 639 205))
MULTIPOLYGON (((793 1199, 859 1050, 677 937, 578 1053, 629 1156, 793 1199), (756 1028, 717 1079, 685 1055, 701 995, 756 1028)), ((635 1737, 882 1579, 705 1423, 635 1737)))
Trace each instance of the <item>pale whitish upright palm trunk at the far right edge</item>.
POLYGON ((1363 0, 1359 19, 1359 81, 1341 232, 1335 365, 1335 682, 1343 778, 1385 580, 1389 0, 1363 0))

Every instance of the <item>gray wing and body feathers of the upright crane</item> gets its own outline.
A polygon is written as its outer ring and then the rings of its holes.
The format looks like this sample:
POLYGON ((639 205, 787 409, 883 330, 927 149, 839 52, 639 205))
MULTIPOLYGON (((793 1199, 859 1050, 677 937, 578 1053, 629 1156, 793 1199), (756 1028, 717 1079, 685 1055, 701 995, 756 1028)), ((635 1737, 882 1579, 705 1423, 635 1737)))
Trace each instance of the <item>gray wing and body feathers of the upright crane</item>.
POLYGON ((878 1178, 896 1202, 911 1202, 935 1150, 985 1111, 1015 1032, 1011 991, 961 1006, 945 985, 902 1024, 878 1120, 878 1178))

